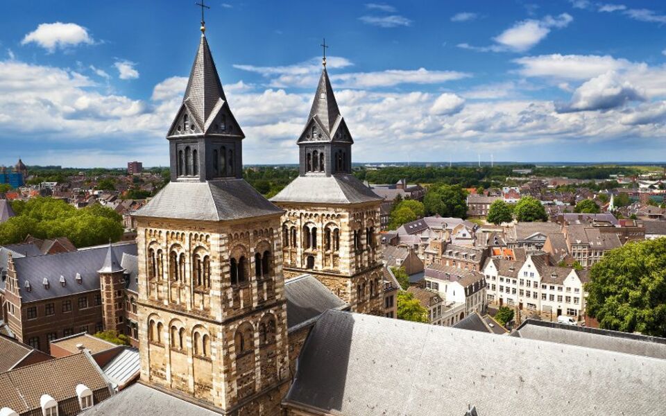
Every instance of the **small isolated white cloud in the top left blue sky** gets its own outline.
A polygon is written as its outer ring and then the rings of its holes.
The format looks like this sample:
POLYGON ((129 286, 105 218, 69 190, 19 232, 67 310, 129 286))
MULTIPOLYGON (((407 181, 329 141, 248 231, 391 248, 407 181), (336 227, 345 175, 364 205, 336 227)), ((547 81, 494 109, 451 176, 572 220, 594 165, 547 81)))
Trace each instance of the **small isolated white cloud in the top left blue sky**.
POLYGON ((35 43, 49 52, 78 44, 93 44, 94 40, 83 26, 75 23, 42 23, 28 33, 21 44, 35 43))

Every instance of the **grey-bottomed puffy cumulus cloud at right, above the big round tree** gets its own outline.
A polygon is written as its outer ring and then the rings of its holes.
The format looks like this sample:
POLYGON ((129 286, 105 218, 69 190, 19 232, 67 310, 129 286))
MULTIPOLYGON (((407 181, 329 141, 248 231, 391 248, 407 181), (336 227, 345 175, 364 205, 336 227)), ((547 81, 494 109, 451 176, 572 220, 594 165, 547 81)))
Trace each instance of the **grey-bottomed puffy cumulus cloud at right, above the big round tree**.
POLYGON ((643 92, 617 73, 606 72, 592 78, 576 89, 571 103, 558 108, 560 112, 608 110, 622 107, 630 101, 645 101, 643 92))

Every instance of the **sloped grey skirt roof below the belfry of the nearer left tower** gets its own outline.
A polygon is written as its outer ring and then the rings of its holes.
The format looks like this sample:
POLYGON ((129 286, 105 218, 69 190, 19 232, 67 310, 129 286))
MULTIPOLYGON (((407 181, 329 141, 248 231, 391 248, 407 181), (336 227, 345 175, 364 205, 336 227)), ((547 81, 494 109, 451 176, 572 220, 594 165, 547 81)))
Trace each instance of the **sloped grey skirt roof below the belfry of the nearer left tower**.
POLYGON ((221 221, 269 214, 282 214, 282 209, 266 200, 245 180, 223 179, 169 182, 134 215, 221 221))

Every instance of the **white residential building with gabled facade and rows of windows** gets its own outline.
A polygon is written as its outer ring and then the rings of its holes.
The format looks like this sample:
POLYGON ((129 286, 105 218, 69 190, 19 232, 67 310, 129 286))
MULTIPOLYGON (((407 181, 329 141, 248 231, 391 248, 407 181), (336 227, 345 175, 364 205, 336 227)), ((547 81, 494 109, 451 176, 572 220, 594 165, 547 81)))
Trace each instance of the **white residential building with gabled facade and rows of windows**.
POLYGON ((524 262, 490 259, 484 274, 489 304, 550 313, 551 317, 581 319, 585 313, 587 273, 549 266, 545 255, 528 256, 524 262))

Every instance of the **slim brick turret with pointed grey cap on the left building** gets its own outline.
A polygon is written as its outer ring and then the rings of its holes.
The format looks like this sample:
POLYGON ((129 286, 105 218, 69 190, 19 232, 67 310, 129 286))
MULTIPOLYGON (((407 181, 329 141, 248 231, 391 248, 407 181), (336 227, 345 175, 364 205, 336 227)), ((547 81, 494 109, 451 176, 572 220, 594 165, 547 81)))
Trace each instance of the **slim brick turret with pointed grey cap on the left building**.
POLYGON ((102 320, 105 331, 122 332, 123 322, 123 293, 125 291, 124 272, 113 246, 109 242, 104 264, 99 273, 99 281, 102 291, 102 320))

